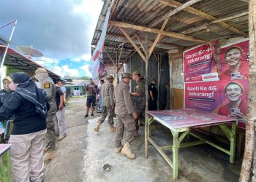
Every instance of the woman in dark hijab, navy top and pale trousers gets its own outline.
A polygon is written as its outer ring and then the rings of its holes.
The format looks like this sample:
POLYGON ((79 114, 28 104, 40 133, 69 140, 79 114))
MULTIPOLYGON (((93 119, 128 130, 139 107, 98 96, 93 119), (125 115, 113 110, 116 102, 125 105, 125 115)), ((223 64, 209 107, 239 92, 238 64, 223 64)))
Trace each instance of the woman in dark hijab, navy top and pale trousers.
POLYGON ((15 181, 42 181, 47 95, 26 73, 11 74, 11 78, 9 87, 14 92, 0 108, 0 120, 14 116, 10 154, 15 181))

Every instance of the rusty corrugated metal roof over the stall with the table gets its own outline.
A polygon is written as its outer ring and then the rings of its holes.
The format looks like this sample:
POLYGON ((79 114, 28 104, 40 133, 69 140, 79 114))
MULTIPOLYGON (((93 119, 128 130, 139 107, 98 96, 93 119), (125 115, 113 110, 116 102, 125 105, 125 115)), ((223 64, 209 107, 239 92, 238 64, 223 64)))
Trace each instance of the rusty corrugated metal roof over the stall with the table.
MULTIPOLYGON (((173 1, 162 0, 165 2, 173 3, 173 1)), ((186 3, 188 0, 178 0, 176 2, 186 3)), ((99 18, 96 31, 94 32, 93 40, 91 41, 92 45, 97 44, 97 40, 101 34, 102 25, 104 23, 104 17, 108 6, 110 4, 110 0, 105 1, 105 4, 102 7, 101 18, 99 18)), ((112 14, 111 20, 116 20, 118 22, 130 23, 133 25, 140 25, 143 27, 151 27, 160 29, 162 23, 158 23, 152 27, 152 23, 159 18, 167 15, 167 12, 170 12, 172 9, 175 9, 176 6, 167 6, 166 3, 163 4, 159 2, 159 0, 113 0, 112 14), (115 7, 115 8, 113 8, 115 7), (115 9, 115 11, 113 11, 115 9)), ((248 3, 241 0, 203 0, 198 2, 197 4, 192 5, 191 7, 200 10, 201 12, 205 12, 208 15, 216 17, 217 19, 230 17, 233 15, 237 15, 241 12, 248 11, 248 3)), ((236 17, 230 20, 226 20, 225 23, 232 25, 234 28, 237 28, 239 31, 243 31, 244 33, 248 33, 248 15, 243 15, 241 17, 236 17)), ((241 36, 238 33, 228 30, 227 28, 223 28, 218 23, 210 23, 205 17, 201 17, 199 15, 195 15, 195 13, 187 12, 182 10, 178 12, 176 15, 170 17, 168 21, 165 31, 171 31, 175 33, 181 33, 183 31, 187 31, 190 28, 197 28, 200 26, 208 25, 206 28, 203 28, 199 31, 188 33, 188 36, 193 36, 196 39, 202 39, 206 41, 211 41, 215 39, 224 39, 228 37, 241 36)), ((136 31, 129 28, 124 28, 124 30, 129 34, 129 36, 133 37, 135 40, 135 44, 138 44, 140 47, 140 42, 135 39, 135 33, 138 34, 140 39, 144 39, 145 32, 136 31)), ((156 33, 148 33, 149 43, 152 44, 154 39, 156 39, 156 33)), ((105 39, 105 44, 113 47, 118 47, 122 42, 127 41, 127 38, 121 33, 119 28, 115 26, 108 26, 108 32, 105 39)), ((167 50, 173 49, 171 44, 176 44, 181 47, 188 47, 197 44, 193 41, 186 41, 184 39, 177 39, 167 36, 162 36, 162 41, 157 44, 155 48, 158 52, 167 52, 167 50)), ((124 49, 134 50, 131 44, 124 44, 124 49)), ((105 56, 108 59, 108 56, 105 56)), ((121 58, 125 58, 125 55, 121 56, 121 58)), ((108 63, 111 63, 109 59, 108 63)))

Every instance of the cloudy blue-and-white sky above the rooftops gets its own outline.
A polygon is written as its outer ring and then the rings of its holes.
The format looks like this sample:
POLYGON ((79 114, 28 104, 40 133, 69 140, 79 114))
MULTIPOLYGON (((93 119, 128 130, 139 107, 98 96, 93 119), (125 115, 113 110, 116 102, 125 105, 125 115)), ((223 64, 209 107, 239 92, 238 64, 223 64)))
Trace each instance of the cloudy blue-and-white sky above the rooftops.
MULTIPOLYGON (((102 0, 1 0, 0 26, 18 20, 14 48, 33 46, 45 61, 38 61, 61 76, 90 76, 91 39, 102 0)), ((12 26, 1 28, 9 37, 12 26)))

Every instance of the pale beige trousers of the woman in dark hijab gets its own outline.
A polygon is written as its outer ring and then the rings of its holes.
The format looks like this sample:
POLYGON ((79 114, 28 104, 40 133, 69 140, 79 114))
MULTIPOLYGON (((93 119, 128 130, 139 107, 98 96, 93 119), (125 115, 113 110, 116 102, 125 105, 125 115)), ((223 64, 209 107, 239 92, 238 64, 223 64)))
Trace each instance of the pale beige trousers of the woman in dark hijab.
POLYGON ((25 135, 10 135, 12 170, 16 182, 42 181, 43 138, 46 130, 25 135))

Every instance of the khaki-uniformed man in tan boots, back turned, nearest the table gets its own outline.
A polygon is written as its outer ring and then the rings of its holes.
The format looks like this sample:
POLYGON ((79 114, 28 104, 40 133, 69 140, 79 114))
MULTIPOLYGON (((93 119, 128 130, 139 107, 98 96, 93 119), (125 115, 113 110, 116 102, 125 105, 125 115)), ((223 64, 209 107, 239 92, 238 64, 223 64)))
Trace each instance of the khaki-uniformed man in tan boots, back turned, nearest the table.
POLYGON ((132 106, 132 100, 129 92, 129 82, 132 79, 131 74, 124 73, 121 75, 121 82, 118 83, 114 90, 114 101, 116 103, 115 113, 117 118, 116 123, 116 153, 121 151, 122 154, 129 159, 135 159, 135 154, 132 153, 130 145, 136 134, 135 119, 138 115, 132 106), (124 135, 124 127, 127 129, 126 143, 121 145, 121 140, 124 135))

